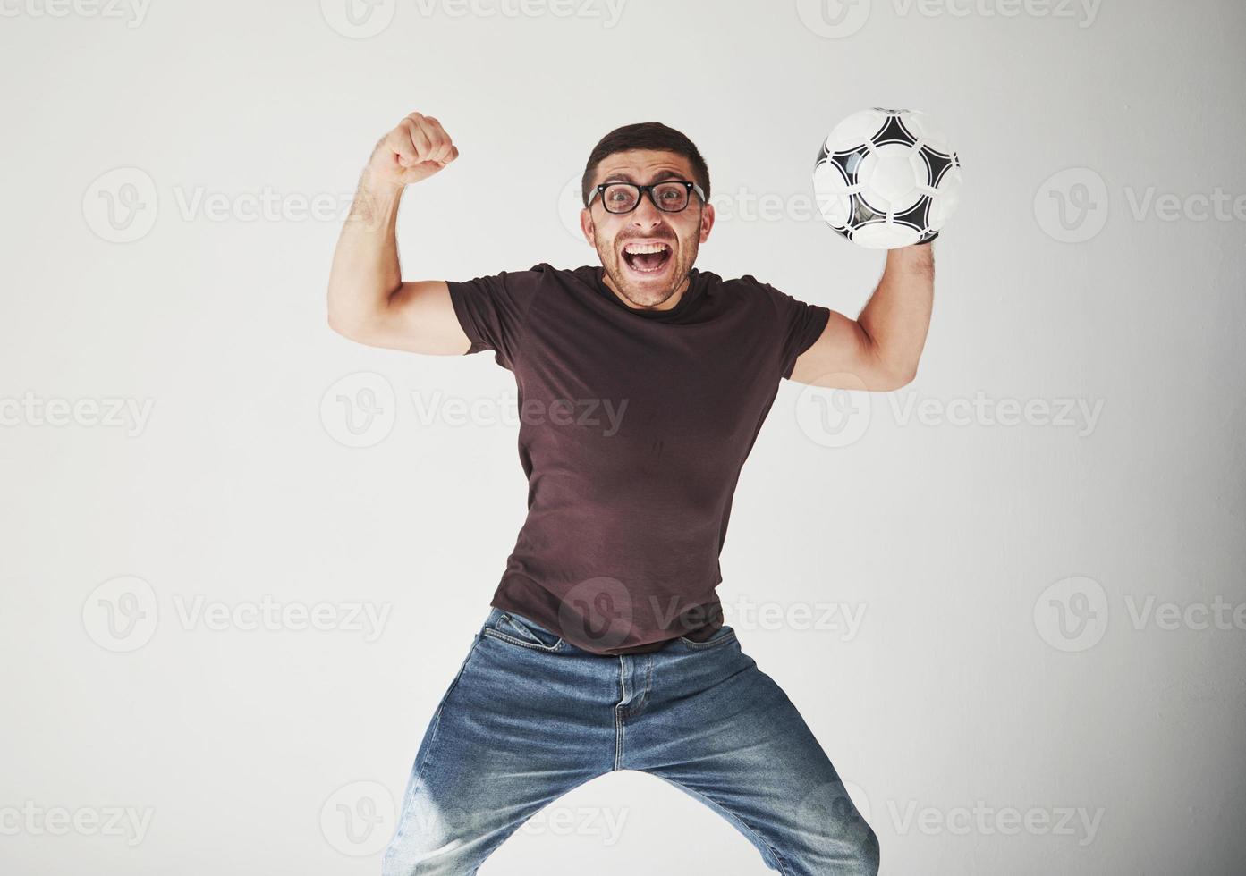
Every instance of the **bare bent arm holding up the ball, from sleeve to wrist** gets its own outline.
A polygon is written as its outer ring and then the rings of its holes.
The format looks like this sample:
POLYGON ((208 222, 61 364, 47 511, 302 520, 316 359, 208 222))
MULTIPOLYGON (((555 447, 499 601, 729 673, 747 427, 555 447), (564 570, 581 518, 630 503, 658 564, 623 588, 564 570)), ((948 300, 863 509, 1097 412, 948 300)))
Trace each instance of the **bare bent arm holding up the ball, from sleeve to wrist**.
POLYGON ((856 320, 831 311, 822 333, 796 358, 791 380, 886 392, 912 382, 934 297, 931 244, 887 250, 878 287, 856 320))

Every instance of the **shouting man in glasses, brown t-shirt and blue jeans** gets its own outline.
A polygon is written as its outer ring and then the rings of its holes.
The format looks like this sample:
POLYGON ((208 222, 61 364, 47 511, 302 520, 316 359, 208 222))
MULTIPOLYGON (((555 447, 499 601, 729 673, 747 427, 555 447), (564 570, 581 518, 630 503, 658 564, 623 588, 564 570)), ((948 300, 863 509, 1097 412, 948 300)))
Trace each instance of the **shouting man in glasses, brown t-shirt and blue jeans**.
MULTIPOLYGON (((896 389, 926 340, 928 245, 891 250, 857 320, 693 268, 709 170, 664 124, 607 134, 583 177, 599 266, 404 281, 404 188, 459 157, 411 113, 376 146, 335 253, 329 325, 516 376, 528 515, 420 743, 384 872, 475 874, 598 775, 657 775, 787 876, 876 874, 878 842, 786 694, 723 623, 718 557, 780 378, 896 389)), ((526 209, 522 203, 516 210, 526 209)))

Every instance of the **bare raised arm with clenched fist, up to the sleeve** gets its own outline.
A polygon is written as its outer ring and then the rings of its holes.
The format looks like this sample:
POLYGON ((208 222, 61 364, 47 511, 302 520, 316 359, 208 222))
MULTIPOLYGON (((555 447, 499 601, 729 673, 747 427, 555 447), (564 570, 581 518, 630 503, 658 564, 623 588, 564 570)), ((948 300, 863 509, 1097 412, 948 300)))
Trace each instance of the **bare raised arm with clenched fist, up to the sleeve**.
POLYGON ((431 116, 412 112, 385 134, 359 178, 329 273, 329 327, 359 343, 415 353, 464 353, 470 341, 444 280, 402 282, 397 207, 411 183, 459 157, 431 116))

